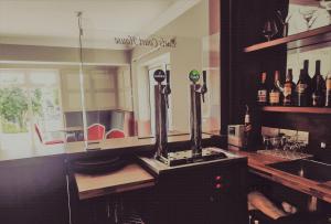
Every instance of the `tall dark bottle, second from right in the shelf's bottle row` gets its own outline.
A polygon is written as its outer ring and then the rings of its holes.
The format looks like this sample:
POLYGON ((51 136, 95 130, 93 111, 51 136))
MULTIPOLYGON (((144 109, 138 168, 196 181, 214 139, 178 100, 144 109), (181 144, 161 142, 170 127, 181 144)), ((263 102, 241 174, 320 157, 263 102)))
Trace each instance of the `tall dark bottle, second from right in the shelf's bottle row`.
POLYGON ((322 107, 325 102, 324 102, 324 96, 325 96, 325 82, 323 79, 323 76, 321 75, 320 72, 321 68, 321 61, 316 61, 316 72, 312 77, 312 106, 314 107, 322 107))

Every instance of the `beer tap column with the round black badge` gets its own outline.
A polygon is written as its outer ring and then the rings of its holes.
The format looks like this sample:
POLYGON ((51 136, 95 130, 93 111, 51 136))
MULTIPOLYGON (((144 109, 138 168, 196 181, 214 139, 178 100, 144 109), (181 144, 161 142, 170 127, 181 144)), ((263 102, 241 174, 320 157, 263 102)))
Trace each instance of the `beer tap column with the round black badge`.
POLYGON ((156 96, 156 158, 162 160, 168 158, 168 108, 170 88, 170 71, 157 70, 153 77, 158 84, 154 85, 156 96), (167 79, 167 84, 162 82, 167 79))

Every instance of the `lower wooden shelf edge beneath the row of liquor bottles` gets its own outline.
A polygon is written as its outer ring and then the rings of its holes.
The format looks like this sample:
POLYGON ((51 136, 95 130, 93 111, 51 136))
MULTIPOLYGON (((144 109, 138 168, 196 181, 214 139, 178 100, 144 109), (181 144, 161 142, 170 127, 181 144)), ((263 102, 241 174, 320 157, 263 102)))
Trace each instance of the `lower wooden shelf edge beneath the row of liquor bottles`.
POLYGON ((274 106, 266 106, 261 107, 263 111, 275 111, 275 113, 303 113, 303 114, 330 114, 331 108, 328 107, 274 107, 274 106))

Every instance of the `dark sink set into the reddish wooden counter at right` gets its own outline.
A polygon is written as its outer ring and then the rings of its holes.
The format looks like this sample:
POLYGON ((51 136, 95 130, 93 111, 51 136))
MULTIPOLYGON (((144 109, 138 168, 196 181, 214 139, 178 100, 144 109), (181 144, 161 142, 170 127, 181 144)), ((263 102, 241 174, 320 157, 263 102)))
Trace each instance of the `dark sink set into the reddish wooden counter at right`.
POLYGON ((331 180, 331 164, 300 159, 268 164, 268 167, 318 182, 331 180))

